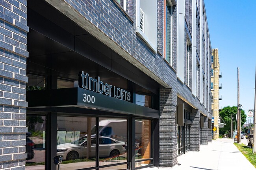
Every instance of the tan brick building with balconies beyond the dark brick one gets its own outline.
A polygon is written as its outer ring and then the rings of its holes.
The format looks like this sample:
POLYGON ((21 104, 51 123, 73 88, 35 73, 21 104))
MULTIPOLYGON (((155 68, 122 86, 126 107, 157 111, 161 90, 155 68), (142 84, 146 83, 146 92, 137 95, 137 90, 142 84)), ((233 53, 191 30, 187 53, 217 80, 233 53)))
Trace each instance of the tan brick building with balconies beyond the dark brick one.
POLYGON ((212 49, 211 53, 211 113, 214 117, 214 127, 216 128, 215 132, 213 131, 213 139, 219 138, 219 124, 221 123, 221 118, 219 117, 219 89, 222 88, 221 84, 219 84, 219 78, 221 78, 221 74, 219 71, 219 49, 212 49))

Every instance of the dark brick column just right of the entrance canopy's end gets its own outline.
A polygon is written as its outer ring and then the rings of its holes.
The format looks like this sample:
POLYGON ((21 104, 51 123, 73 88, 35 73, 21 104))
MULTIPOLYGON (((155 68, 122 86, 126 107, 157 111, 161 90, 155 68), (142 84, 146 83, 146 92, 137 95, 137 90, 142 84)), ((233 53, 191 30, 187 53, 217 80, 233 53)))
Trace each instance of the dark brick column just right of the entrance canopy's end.
POLYGON ((171 89, 160 89, 160 153, 159 165, 173 167, 177 164, 177 95, 171 89))

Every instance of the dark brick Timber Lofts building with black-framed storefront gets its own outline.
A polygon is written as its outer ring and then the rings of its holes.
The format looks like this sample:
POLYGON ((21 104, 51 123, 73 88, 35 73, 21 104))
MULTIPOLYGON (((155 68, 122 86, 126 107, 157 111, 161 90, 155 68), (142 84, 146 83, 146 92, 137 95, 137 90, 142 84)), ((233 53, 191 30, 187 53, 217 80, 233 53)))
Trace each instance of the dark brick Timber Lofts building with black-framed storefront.
POLYGON ((0 14, 0 169, 173 167, 211 142, 203 0, 3 0, 0 14))

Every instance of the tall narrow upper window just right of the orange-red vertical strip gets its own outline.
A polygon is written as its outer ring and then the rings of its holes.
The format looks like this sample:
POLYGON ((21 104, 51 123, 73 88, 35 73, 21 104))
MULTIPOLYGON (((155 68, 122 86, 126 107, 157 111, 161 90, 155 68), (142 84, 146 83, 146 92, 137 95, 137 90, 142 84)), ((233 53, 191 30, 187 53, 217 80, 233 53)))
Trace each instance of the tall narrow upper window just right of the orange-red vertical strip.
POLYGON ((173 65, 173 6, 169 2, 166 1, 166 24, 165 24, 165 36, 166 36, 166 43, 165 43, 165 59, 167 62, 172 66, 173 65))

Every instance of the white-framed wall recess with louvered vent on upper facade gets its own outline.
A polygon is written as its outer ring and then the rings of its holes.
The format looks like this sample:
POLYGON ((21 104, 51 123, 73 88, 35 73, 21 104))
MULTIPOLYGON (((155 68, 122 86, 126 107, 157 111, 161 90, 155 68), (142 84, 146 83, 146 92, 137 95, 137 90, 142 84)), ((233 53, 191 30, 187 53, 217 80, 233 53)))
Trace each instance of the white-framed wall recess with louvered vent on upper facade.
POLYGON ((136 0, 136 11, 136 32, 157 53, 157 0, 136 0))

